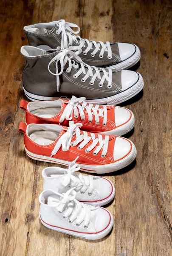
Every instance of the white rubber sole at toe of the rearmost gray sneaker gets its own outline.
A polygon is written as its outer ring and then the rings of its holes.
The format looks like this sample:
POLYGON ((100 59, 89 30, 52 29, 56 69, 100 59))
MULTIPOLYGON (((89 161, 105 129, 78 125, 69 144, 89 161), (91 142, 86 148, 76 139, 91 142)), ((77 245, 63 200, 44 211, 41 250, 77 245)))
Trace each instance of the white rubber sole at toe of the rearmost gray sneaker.
POLYGON ((126 70, 129 69, 130 67, 133 67, 141 58, 141 53, 139 48, 134 44, 136 51, 135 53, 128 58, 125 61, 122 61, 116 65, 112 65, 109 67, 105 67, 106 69, 112 69, 113 71, 118 71, 118 70, 126 70))

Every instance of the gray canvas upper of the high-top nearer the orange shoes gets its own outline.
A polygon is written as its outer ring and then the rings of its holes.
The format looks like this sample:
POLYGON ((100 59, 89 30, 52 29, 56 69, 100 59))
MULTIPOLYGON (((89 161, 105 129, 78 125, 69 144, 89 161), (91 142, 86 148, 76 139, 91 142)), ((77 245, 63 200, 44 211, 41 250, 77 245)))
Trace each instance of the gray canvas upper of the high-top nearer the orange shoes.
MULTIPOLYGON (((111 88, 107 87, 108 81, 106 80, 103 83, 103 87, 99 87, 101 79, 96 78, 94 84, 91 85, 90 81, 92 77, 88 77, 85 82, 81 81, 81 79, 85 77, 84 74, 81 74, 77 79, 73 78, 73 75, 76 74, 79 69, 72 66, 71 72, 66 72, 69 65, 68 61, 64 66, 63 73, 59 75, 60 87, 59 92, 57 92, 56 76, 48 71, 48 64, 59 52, 62 52, 62 50, 42 51, 41 49, 30 46, 21 48, 21 53, 26 59, 26 66, 23 70, 23 86, 25 90, 29 93, 41 96, 67 96, 71 98, 72 95, 75 95, 76 97, 84 96, 86 99, 109 97, 122 91, 121 71, 112 73, 111 88)), ((76 60, 75 62, 77 63, 76 60)), ((61 69, 59 61, 57 66, 59 72, 61 69)), ((85 67, 85 69, 87 70, 87 67, 85 67)), ((50 65, 50 70, 52 73, 56 74, 56 61, 50 65)), ((131 72, 127 70, 124 71, 131 72)), ((95 73, 94 70, 93 73, 95 73)), ((102 71, 100 71, 100 74, 101 77, 104 75, 102 71)))

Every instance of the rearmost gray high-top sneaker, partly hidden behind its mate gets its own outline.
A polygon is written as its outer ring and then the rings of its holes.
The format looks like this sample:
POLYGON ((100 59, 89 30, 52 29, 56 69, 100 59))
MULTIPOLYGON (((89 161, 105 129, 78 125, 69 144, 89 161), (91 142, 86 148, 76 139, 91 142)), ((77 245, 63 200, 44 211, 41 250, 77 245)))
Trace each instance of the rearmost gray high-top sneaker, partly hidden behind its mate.
POLYGON ((83 39, 78 35, 79 26, 65 20, 38 23, 24 27, 31 46, 41 49, 66 49, 80 46, 82 52, 79 57, 90 66, 111 68, 114 71, 128 69, 135 65, 140 57, 140 50, 134 44, 103 43, 83 39), (77 28, 74 31, 72 28, 77 28))

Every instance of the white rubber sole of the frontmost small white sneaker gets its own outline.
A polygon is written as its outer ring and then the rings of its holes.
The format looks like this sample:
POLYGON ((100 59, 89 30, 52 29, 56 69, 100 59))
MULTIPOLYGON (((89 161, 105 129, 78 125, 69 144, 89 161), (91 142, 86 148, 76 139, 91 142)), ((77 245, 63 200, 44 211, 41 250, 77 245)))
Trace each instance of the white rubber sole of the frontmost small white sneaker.
MULTIPOLYGON (((108 210, 107 210, 108 211, 108 210)), ((109 212, 109 211, 108 211, 109 212)), ((87 240, 97 240, 97 239, 102 239, 104 238, 105 236, 108 235, 108 233, 110 233, 110 230, 113 228, 113 216, 112 214, 109 212, 110 214, 110 224, 108 225, 108 227, 103 230, 102 232, 100 233, 96 233, 96 234, 89 234, 89 233, 79 233, 79 232, 76 232, 76 231, 71 231, 71 230, 64 230, 62 228, 59 228, 59 227, 55 227, 55 226, 52 226, 52 225, 48 225, 47 223, 45 223, 43 220, 42 220, 42 217, 40 216, 39 214, 39 219, 41 221, 41 223, 45 226, 45 227, 48 227, 49 229, 51 230, 55 230, 55 231, 58 231, 58 232, 61 232, 61 233, 65 233, 65 234, 68 234, 68 235, 71 235, 71 236, 77 236, 77 237, 81 237, 81 238, 85 238, 87 240)))

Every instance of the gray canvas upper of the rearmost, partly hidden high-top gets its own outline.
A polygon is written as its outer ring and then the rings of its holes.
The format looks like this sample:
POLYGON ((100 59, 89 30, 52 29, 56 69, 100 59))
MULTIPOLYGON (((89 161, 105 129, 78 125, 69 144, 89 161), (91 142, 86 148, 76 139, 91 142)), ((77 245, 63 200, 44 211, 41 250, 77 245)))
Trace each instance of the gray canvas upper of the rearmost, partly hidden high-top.
MULTIPOLYGON (((62 33, 58 34, 57 30, 59 29, 58 21, 53 21, 49 23, 38 23, 34 25, 29 25, 24 27, 24 31, 27 35, 29 45, 38 47, 40 45, 46 45, 51 47, 51 49, 56 49, 56 47, 61 46, 62 41, 62 33)), ((72 46, 78 46, 79 42, 73 41, 72 46)), ((68 47, 70 45, 68 44, 68 47)), ((90 66, 96 67, 108 67, 110 65, 117 64, 121 62, 118 44, 111 43, 110 44, 112 50, 112 58, 108 58, 108 51, 105 50, 103 54, 103 58, 100 58, 100 52, 102 47, 96 52, 95 56, 92 57, 91 53, 94 51, 95 46, 89 50, 87 55, 84 55, 83 52, 87 49, 87 44, 82 47, 82 52, 80 53, 80 57, 82 60, 89 64, 90 66)))

